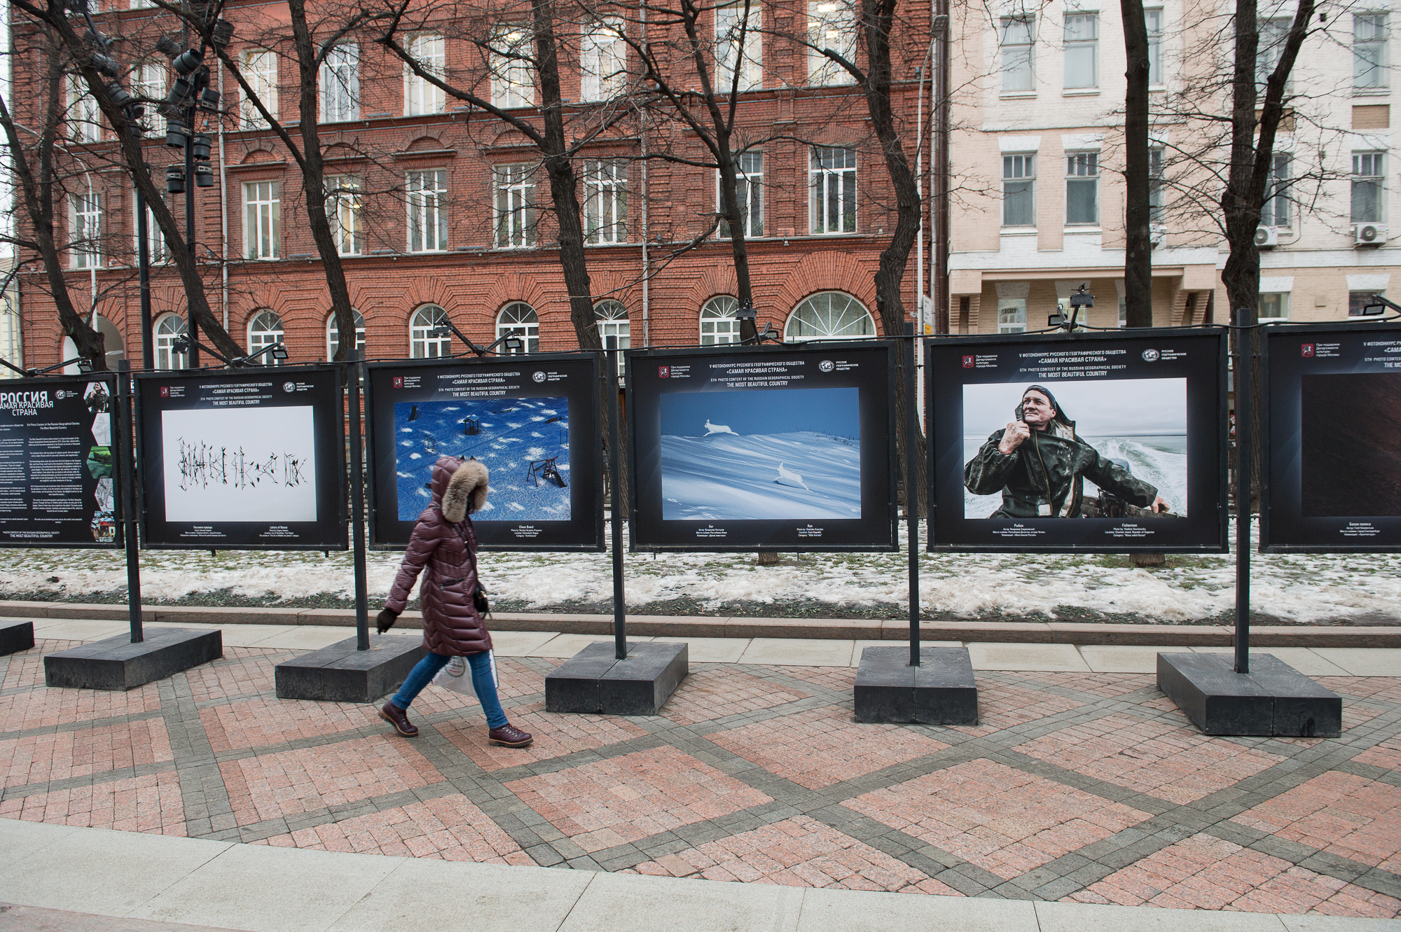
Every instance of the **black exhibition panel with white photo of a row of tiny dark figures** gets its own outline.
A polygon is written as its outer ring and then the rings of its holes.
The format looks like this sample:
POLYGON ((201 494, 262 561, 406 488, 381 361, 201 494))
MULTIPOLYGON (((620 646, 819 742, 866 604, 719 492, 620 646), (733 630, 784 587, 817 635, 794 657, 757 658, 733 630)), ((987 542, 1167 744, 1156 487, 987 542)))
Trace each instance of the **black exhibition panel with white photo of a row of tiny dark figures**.
POLYGON ((134 383, 147 547, 346 549, 340 367, 139 372, 134 383))

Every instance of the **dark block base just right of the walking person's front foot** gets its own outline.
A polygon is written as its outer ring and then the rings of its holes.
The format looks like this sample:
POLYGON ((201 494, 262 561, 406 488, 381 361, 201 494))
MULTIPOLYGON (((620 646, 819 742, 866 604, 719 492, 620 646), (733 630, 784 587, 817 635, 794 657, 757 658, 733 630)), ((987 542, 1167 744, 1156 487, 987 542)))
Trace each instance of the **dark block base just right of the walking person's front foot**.
POLYGON ((686 679, 685 644, 628 645, 614 656, 612 641, 595 641, 545 677, 545 709, 604 715, 656 715, 686 679))

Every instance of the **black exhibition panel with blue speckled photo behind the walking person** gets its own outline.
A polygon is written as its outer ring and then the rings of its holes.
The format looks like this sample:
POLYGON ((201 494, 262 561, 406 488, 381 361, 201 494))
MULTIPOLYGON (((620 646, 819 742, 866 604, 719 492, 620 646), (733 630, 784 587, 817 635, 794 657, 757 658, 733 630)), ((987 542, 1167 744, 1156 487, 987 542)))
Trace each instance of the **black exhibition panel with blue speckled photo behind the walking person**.
POLYGON ((402 549, 439 456, 475 458, 492 494, 485 550, 602 550, 598 357, 532 353, 367 367, 370 544, 402 549))

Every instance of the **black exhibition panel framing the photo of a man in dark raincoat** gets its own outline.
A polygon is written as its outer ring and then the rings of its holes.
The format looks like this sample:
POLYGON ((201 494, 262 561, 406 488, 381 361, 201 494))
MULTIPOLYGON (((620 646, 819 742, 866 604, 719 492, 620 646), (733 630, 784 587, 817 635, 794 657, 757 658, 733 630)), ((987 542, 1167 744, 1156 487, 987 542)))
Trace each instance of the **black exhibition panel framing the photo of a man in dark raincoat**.
MULTIPOLYGON (((1135 329, 1097 333, 1035 333, 943 337, 927 343, 925 351, 925 403, 929 424, 929 540, 932 551, 951 553, 1226 553, 1226 332, 1222 329, 1135 329), (967 435, 965 388, 1006 385, 1020 397, 1014 385, 1076 383, 1075 393, 1089 397, 1089 385, 1103 381, 1181 379, 1182 385, 1164 383, 1164 389, 1182 390, 1181 434, 1185 467, 1173 466, 1174 477, 1184 480, 1187 515, 1166 516, 993 516, 1002 511, 992 494, 979 501, 995 511, 965 515, 964 469, 969 451, 982 451, 991 439, 967 435)), ((1124 386, 1126 388, 1126 386, 1124 386)), ((1152 396, 1152 386, 1135 390, 1152 396)), ((978 397, 996 396, 1000 389, 981 390, 978 397)), ((978 403, 978 402, 974 402, 978 403)), ((1062 402, 1063 403, 1063 402, 1062 402)), ((988 402, 982 402, 984 406, 988 402)), ((1016 399, 1006 404, 1006 421, 1013 418, 1016 399)), ((1070 407, 1070 404, 1066 404, 1070 407)), ((979 407, 979 421, 991 424, 986 407, 979 407)), ((996 409, 1002 410, 1002 409, 996 409)), ((1075 411, 1068 414, 1073 416, 1075 411)), ((1153 423, 1152 418, 1149 424, 1153 423)), ((1159 418, 1159 424, 1166 418, 1159 418)), ((1145 427, 1147 427, 1146 424, 1145 427)), ((986 427, 986 424, 982 424, 986 427)), ((996 424, 1003 428, 1003 424, 996 424)), ((968 430, 972 430, 969 427, 968 430)), ((1160 428, 1164 430, 1164 428, 1160 428)), ((1079 437, 1080 427, 1076 427, 1079 437)), ((1084 434, 1086 437, 1096 437, 1084 434)), ((1115 438, 1140 437, 1125 430, 1115 438)), ((1177 435, 1160 435, 1154 442, 1167 444, 1177 435)), ((1136 441, 1124 444, 1142 456, 1140 467, 1150 466, 1154 449, 1136 441)), ((974 453, 976 455, 976 453, 974 453)), ((1174 453, 1164 453, 1170 460, 1174 453)), ((1114 456, 1110 456, 1114 459, 1114 456)), ((1129 462, 1129 460, 1125 460, 1129 462)), ((1132 463, 1131 463, 1132 466, 1132 463)), ((1131 469, 1132 472, 1132 469, 1131 469)), ((1159 493, 1161 494, 1161 491, 1159 493)), ((1170 505, 1181 507, 1181 502, 1170 505)))

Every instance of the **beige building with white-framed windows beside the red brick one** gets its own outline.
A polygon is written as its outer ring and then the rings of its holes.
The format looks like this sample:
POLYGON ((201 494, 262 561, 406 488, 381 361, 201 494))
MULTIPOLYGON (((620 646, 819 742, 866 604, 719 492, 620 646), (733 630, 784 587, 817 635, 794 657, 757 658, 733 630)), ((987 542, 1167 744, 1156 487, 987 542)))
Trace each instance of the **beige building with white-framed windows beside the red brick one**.
MULTIPOLYGON (((1393 52, 1388 0, 1330 7, 1290 83, 1276 146, 1278 196, 1265 207, 1262 318, 1330 320, 1386 292, 1401 266, 1401 214, 1388 236, 1393 52)), ((1222 158, 1210 120, 1226 112, 1230 21, 1201 3, 1149 0, 1153 319, 1224 322, 1216 225, 1222 158), (1187 25, 1184 25, 1187 24, 1187 25), (1210 97, 1202 88, 1220 91, 1210 97)), ((1100 0, 965 6, 954 17, 950 329, 1040 329, 1082 281, 1089 322, 1115 326, 1124 294, 1119 4, 1100 0)), ((1292 7, 1261 11, 1268 73, 1292 7), (1274 17, 1274 18, 1271 18, 1274 17)), ((1398 14, 1401 15, 1401 14, 1398 14)), ((1401 276, 1397 277, 1401 291, 1401 276)))

